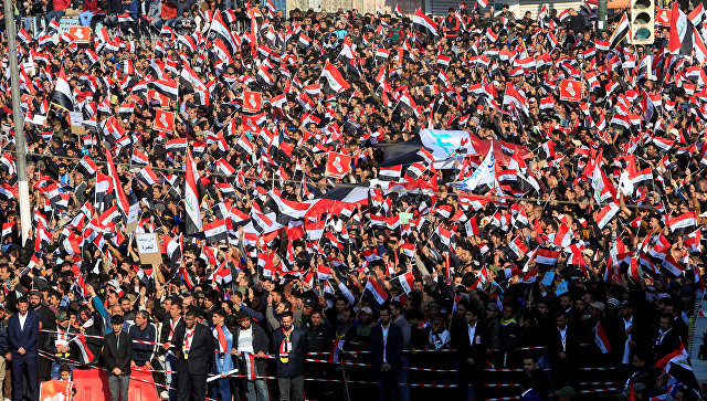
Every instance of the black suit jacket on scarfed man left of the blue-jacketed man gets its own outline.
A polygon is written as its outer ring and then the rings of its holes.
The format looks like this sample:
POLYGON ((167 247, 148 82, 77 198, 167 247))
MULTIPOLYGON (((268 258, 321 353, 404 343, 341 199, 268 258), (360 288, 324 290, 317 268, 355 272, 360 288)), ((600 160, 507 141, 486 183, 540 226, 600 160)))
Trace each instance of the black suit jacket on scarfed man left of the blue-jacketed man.
POLYGON ((215 351, 215 339, 211 330, 201 324, 194 326, 194 334, 191 337, 189 358, 184 359, 182 348, 184 345, 186 325, 179 325, 175 330, 175 355, 177 356, 177 370, 187 371, 189 374, 207 374, 213 365, 213 352, 215 351))

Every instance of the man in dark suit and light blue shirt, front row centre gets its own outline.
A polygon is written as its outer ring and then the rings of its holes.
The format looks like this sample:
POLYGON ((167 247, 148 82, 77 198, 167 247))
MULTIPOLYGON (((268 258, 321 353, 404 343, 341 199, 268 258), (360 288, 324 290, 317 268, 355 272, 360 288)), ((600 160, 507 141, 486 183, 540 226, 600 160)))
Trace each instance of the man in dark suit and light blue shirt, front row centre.
POLYGON ((379 310, 380 324, 371 329, 371 369, 378 373, 378 399, 398 400, 402 369, 402 329, 392 324, 389 305, 379 310))

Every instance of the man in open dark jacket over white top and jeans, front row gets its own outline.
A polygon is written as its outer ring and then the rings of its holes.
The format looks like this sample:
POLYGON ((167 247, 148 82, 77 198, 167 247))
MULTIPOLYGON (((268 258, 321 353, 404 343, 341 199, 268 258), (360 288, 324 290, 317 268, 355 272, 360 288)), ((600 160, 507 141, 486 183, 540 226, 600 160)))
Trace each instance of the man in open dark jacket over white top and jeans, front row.
POLYGON ((253 323, 250 314, 243 309, 238 313, 238 328, 233 329, 233 355, 240 356, 239 365, 241 371, 246 376, 245 399, 247 401, 267 401, 267 382, 265 379, 251 379, 251 377, 264 376, 267 369, 267 361, 262 358, 267 353, 267 334, 260 324, 253 323))

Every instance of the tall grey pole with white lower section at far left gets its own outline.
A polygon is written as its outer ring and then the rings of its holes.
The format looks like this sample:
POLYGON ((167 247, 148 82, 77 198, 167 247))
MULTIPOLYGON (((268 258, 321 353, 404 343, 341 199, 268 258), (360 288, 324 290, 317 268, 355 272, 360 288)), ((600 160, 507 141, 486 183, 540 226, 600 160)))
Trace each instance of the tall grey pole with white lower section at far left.
POLYGON ((4 27, 8 35, 10 57, 10 87, 12 88, 12 123, 14 125, 15 169, 18 171, 18 201, 20 202, 20 225, 22 245, 27 242, 32 226, 30 218, 30 188, 27 181, 27 144, 24 141, 24 116, 20 109, 20 75, 18 73, 18 46, 15 43, 14 7, 12 0, 4 0, 4 27))

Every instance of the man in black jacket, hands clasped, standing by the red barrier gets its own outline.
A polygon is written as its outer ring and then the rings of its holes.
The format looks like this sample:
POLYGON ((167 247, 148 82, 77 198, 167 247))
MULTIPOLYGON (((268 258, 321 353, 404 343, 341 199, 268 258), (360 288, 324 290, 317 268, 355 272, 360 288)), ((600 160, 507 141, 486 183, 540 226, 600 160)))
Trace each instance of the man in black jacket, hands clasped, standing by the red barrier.
POLYGON ((103 345, 103 360, 108 371, 108 388, 112 401, 128 401, 130 386, 130 362, 133 361, 133 338, 123 331, 125 318, 113 315, 110 326, 113 333, 106 335, 103 345))

